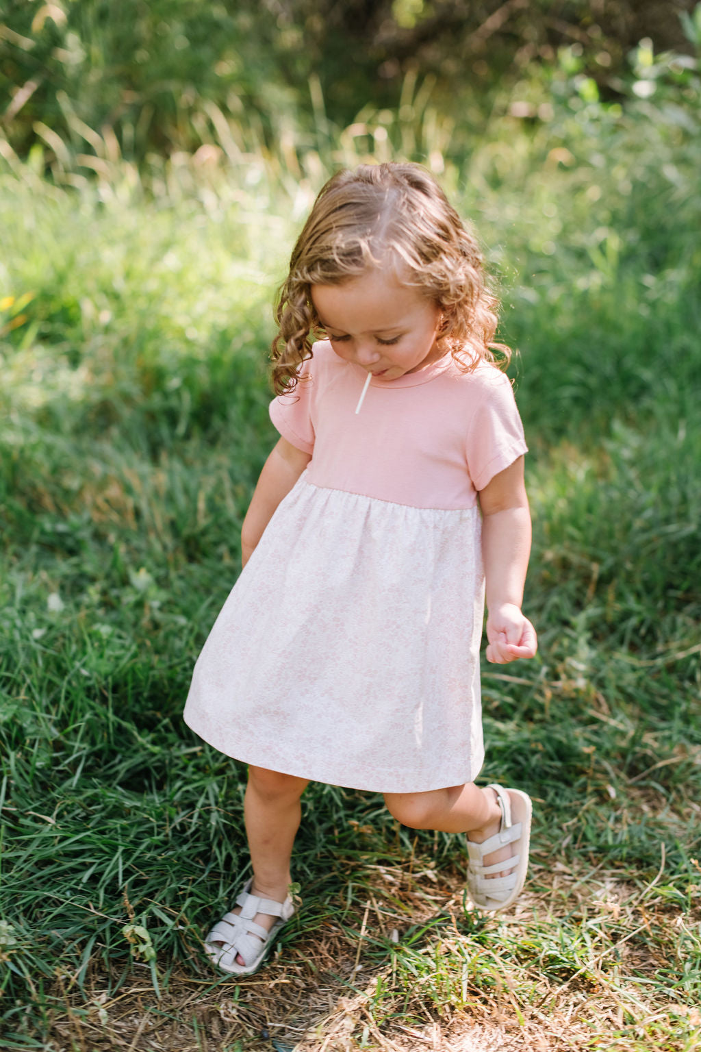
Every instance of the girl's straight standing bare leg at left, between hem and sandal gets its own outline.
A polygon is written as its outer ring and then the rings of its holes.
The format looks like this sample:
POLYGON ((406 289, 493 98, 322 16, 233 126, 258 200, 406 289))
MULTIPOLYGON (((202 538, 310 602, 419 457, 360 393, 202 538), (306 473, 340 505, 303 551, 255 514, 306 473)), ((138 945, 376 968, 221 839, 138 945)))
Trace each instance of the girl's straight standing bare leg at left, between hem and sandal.
MULTIPOLYGON (((244 817, 253 866, 252 895, 276 903, 287 898, 292 845, 302 816, 300 801, 308 785, 307 780, 291 774, 249 767, 244 817)), ((241 907, 231 912, 240 913, 241 907)), ((269 931, 276 918, 256 913, 253 919, 269 931)), ((241 954, 236 963, 245 965, 241 954)))

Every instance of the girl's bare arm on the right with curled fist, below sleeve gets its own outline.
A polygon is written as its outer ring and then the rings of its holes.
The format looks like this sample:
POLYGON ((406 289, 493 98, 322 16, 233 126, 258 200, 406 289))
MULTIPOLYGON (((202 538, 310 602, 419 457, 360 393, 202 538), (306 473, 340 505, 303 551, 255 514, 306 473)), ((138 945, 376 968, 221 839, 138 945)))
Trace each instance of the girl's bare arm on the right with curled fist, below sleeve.
POLYGON ((522 457, 480 489, 479 504, 487 583, 487 660, 504 665, 518 658, 533 658, 538 649, 535 628, 521 612, 531 552, 522 457))

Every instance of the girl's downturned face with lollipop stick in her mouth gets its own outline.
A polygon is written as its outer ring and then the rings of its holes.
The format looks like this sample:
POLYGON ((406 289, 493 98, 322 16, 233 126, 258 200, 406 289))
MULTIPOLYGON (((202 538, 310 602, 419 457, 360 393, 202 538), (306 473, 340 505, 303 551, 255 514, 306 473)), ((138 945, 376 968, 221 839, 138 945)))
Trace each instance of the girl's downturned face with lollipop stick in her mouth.
POLYGON ((339 285, 312 285, 311 298, 331 346, 382 380, 415 372, 444 353, 440 310, 393 268, 368 270, 339 285))

